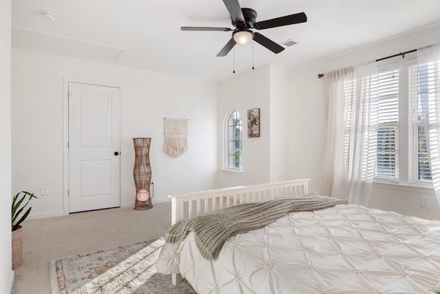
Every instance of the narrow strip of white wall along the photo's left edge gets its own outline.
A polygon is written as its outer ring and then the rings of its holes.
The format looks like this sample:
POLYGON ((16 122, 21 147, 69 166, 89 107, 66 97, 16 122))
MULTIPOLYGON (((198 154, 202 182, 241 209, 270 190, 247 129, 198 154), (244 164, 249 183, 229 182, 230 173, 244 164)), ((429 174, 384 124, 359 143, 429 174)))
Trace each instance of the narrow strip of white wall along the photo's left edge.
POLYGON ((0 293, 14 284, 11 245, 11 1, 0 1, 0 293))

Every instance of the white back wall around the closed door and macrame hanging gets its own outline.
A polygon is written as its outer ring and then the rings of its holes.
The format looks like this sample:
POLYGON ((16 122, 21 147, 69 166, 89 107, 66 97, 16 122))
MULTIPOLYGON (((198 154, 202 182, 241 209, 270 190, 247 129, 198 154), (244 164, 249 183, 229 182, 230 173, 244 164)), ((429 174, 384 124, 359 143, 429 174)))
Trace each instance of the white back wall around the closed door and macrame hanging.
POLYGON ((39 196, 30 219, 64 213, 65 77, 122 86, 122 206, 134 205, 133 137, 152 138, 153 204, 170 193, 217 187, 215 83, 12 48, 12 191, 39 196), (189 150, 179 158, 162 151, 164 117, 188 118, 189 150), (41 187, 48 196, 40 196, 41 187))

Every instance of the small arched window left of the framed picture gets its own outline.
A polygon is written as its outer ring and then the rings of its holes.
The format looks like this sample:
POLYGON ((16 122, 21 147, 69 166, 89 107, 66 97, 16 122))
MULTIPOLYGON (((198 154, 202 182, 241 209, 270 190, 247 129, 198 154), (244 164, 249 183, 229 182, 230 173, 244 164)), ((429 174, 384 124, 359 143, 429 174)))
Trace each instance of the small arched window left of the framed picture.
POLYGON ((225 118, 225 169, 241 170, 241 115, 232 110, 225 118))

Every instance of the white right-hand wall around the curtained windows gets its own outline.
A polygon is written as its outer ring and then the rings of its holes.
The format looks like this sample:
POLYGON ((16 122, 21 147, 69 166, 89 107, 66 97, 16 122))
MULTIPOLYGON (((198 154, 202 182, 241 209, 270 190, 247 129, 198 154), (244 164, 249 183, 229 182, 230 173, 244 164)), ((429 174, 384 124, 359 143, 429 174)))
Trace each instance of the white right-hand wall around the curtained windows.
MULTIPOLYGON (((324 81, 317 74, 391 56, 440 43, 440 25, 412 32, 405 36, 377 43, 360 50, 347 52, 315 64, 290 70, 293 125, 295 136, 289 141, 294 150, 289 164, 290 178, 311 178, 310 188, 320 190, 322 160, 325 148, 324 81), (301 127, 302 126, 302 127, 301 127), (307 144, 304 142, 307 141, 307 144)), ((400 58, 400 57, 397 57, 400 58)), ((440 209, 432 189, 403 185, 374 185, 371 207, 393 210, 413 216, 440 220, 440 209), (430 209, 420 208, 420 196, 430 198, 430 209)))

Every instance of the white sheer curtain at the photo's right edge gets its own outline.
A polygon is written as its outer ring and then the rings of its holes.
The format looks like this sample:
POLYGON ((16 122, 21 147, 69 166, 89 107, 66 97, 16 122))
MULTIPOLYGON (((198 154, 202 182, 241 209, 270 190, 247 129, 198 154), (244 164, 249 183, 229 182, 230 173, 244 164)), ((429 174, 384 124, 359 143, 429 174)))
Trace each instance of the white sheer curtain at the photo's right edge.
POLYGON ((432 184, 440 203, 440 45, 418 49, 417 67, 432 184))

